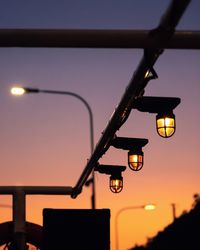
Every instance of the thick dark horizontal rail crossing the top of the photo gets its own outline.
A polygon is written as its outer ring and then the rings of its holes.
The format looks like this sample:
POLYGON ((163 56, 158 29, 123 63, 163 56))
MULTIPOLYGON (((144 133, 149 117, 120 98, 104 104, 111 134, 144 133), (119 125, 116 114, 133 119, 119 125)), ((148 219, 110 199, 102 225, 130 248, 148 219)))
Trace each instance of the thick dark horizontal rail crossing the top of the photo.
MULTIPOLYGON (((149 30, 0 29, 0 47, 157 48, 149 30)), ((200 31, 176 31, 166 49, 200 49, 200 31)))

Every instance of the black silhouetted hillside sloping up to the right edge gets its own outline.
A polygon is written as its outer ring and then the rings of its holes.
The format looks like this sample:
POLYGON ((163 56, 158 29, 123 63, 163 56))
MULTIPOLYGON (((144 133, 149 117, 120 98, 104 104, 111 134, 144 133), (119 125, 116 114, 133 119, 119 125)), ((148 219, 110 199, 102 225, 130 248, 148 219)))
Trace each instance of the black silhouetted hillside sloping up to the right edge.
POLYGON ((130 250, 196 250, 200 249, 200 202, 150 239, 145 246, 130 250))

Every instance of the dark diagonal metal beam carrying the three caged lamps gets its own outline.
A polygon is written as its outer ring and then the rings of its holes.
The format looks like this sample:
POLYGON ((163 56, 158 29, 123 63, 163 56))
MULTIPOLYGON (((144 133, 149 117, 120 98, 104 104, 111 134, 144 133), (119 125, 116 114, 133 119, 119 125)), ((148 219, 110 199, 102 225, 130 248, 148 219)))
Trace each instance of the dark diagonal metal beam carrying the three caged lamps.
POLYGON ((149 36, 155 39, 158 47, 145 50, 144 56, 142 57, 135 73, 133 74, 129 85, 127 86, 126 91, 119 102, 119 105, 115 109, 107 127, 105 128, 99 142, 96 145, 92 156, 85 166, 77 184, 73 188, 72 198, 76 198, 81 192, 82 187, 87 181, 90 173, 98 164, 98 160, 110 147, 115 133, 128 119, 135 100, 137 97, 143 95, 148 81, 152 79, 152 77, 149 75, 149 72, 152 72, 153 65, 163 52, 163 49, 160 48, 165 48, 170 41, 174 34, 174 29, 185 9, 187 8, 189 2, 190 0, 172 1, 169 5, 169 8, 161 18, 158 27, 149 33, 149 36))

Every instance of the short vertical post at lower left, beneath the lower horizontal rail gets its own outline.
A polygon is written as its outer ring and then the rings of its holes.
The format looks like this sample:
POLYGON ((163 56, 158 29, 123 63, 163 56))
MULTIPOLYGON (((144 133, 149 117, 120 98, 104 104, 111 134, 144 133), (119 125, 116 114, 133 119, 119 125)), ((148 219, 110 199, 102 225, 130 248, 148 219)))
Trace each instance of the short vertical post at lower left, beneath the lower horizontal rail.
POLYGON ((14 239, 12 249, 26 250, 26 216, 25 216, 25 192, 16 188, 13 193, 13 231, 14 239))

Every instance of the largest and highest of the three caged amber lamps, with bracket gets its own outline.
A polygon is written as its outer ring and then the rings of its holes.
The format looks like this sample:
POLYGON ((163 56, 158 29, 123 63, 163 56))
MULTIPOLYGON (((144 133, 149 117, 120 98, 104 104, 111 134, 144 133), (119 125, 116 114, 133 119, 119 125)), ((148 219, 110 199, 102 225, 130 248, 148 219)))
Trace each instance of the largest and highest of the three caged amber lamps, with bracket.
POLYGON ((139 97, 133 108, 141 112, 157 113, 156 129, 161 137, 171 137, 176 131, 176 121, 173 110, 181 102, 178 97, 139 97))

